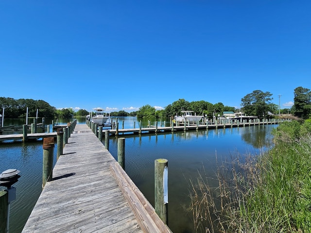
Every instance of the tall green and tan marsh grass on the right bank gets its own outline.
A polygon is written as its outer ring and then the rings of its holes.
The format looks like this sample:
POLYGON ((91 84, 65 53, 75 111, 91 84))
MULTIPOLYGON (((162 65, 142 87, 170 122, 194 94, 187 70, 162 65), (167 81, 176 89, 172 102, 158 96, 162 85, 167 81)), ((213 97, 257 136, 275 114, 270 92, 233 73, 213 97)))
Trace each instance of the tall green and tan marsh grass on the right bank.
POLYGON ((311 120, 284 122, 275 147, 190 181, 190 211, 197 233, 311 232, 311 120))

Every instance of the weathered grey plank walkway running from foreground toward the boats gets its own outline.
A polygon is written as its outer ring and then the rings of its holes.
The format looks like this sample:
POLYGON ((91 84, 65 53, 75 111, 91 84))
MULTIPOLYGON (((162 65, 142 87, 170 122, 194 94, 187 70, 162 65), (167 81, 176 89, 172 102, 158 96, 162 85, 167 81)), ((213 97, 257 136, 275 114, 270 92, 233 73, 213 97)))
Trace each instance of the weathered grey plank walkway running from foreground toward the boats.
POLYGON ((85 124, 76 125, 22 233, 170 233, 85 124))

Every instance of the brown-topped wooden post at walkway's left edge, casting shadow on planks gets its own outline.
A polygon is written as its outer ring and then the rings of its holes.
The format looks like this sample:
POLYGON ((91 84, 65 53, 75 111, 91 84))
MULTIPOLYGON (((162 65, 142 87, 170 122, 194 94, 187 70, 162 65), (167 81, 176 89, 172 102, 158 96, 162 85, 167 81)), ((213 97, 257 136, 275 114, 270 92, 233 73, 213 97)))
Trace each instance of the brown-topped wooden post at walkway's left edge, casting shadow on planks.
POLYGON ((52 181, 53 154, 54 154, 54 138, 53 137, 44 138, 42 188, 44 188, 47 182, 52 181))

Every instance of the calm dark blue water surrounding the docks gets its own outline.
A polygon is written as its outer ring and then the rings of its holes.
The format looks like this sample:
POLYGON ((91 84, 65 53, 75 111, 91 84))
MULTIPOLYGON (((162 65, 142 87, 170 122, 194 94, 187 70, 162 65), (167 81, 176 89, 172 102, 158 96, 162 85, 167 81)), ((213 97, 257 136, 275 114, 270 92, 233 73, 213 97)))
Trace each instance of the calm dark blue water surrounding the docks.
MULTIPOLYGON (((114 119, 115 121, 115 119, 114 119)), ((136 128, 136 117, 118 118, 119 128, 136 128)), ((67 121, 59 121, 67 123, 67 121)), ((84 124, 84 118, 78 119, 84 124)), ((164 121, 161 122, 164 126, 164 121)), ((146 127, 148 120, 142 121, 146 127)), ((155 122, 151 122, 155 124, 155 122)), ((158 126, 160 121, 158 121, 158 126)), ((166 126, 169 120, 166 121, 166 126)), ((169 164, 169 227, 173 233, 192 233, 191 213, 185 209, 190 205, 189 181, 198 172, 214 177, 216 155, 220 160, 231 160, 233 156, 259 154, 272 146, 271 130, 276 125, 226 128, 208 131, 192 131, 158 135, 126 136, 125 171, 145 197, 154 205, 154 161, 168 159, 169 164), (260 146, 262 145, 262 146, 260 146)), ((122 135, 119 135, 122 137, 122 135)), ((110 138, 109 150, 117 158, 117 138, 110 138)), ((56 158, 57 145, 54 148, 56 158)), ((21 178, 14 184, 17 200, 11 204, 10 233, 20 233, 41 192, 42 141, 22 144, 0 143, 0 172, 16 168, 21 178)), ((54 161, 55 163, 56 161, 54 161)), ((213 184, 213 180, 210 180, 213 184)), ((215 183, 215 186, 217 184, 215 183)))

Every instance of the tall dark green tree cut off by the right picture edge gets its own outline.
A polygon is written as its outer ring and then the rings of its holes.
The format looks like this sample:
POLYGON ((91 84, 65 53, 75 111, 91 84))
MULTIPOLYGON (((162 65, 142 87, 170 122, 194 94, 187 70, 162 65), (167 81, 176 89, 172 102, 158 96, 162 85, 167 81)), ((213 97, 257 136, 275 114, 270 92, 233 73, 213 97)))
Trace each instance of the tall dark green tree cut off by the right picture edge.
POLYGON ((311 92, 310 89, 297 87, 294 89, 294 105, 292 107, 294 116, 307 119, 311 116, 311 92))

